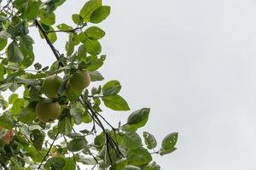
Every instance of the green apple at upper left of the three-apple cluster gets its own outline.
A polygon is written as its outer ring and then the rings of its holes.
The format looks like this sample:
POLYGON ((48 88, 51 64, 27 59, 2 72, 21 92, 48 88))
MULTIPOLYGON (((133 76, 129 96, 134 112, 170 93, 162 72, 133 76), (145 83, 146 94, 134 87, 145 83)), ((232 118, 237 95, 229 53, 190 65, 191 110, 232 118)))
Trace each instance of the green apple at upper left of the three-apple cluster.
POLYGON ((57 92, 62 82, 63 82, 62 78, 55 75, 46 77, 42 85, 42 92, 48 98, 51 98, 51 99, 57 98, 58 97, 57 92))

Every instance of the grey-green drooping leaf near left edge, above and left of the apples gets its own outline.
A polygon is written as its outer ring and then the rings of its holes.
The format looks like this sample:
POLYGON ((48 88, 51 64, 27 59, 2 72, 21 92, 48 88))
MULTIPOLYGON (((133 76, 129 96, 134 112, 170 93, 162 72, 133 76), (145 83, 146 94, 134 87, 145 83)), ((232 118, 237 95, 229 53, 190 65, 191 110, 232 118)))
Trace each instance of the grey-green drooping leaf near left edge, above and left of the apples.
POLYGON ((24 59, 17 42, 13 41, 9 44, 7 57, 10 62, 14 63, 20 63, 24 59))

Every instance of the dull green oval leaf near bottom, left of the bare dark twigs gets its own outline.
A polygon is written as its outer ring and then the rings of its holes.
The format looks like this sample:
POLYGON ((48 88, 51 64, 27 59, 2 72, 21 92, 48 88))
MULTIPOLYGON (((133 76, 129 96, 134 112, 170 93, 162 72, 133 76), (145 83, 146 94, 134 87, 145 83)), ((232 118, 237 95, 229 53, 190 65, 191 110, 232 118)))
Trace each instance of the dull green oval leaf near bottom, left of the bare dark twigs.
POLYGON ((86 144, 87 144, 86 139, 84 137, 79 137, 79 138, 71 140, 67 144, 67 150, 69 150, 69 151, 83 150, 84 147, 86 146, 86 144))

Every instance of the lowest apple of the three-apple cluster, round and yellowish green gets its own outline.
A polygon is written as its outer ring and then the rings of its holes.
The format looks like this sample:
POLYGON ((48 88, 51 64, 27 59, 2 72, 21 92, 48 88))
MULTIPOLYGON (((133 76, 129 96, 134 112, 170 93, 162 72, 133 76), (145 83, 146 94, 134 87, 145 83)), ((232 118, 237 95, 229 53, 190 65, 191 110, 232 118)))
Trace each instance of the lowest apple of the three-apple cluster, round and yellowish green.
POLYGON ((36 114, 41 122, 53 122, 61 115, 61 105, 58 102, 52 102, 44 99, 38 102, 36 114))

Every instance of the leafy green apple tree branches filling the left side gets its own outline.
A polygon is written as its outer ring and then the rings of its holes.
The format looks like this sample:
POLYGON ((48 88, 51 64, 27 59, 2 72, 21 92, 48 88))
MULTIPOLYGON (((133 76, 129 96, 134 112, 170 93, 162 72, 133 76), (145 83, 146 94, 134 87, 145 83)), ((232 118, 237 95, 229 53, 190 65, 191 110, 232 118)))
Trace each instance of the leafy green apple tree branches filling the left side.
POLYGON ((12 92, 9 99, 0 95, 0 167, 72 170, 84 164, 111 170, 160 169, 152 154, 163 156, 176 150, 177 133, 166 135, 155 151, 154 135, 144 132, 141 139, 137 133, 148 122, 148 108, 132 112, 125 124, 113 127, 102 116, 102 105, 113 111, 130 111, 119 94, 120 82, 87 87, 104 79, 98 70, 106 59, 100 43, 105 31, 87 24, 101 23, 111 8, 102 0, 90 0, 72 15, 73 26, 55 24, 55 10, 65 1, 0 0, 0 91, 12 92), (56 59, 52 65, 34 63, 32 27, 52 50, 56 59), (54 46, 59 33, 68 36, 65 53, 54 46), (82 90, 74 88, 80 78, 82 90), (17 89, 23 90, 21 97, 17 89), (48 103, 38 106, 44 100, 48 103), (56 119, 49 115, 49 119, 46 114, 55 111, 61 115, 56 119), (40 122, 38 113, 47 121, 40 122), (76 132, 76 126, 81 129, 84 124, 91 129, 76 132), (10 142, 3 141, 7 137, 10 142))

